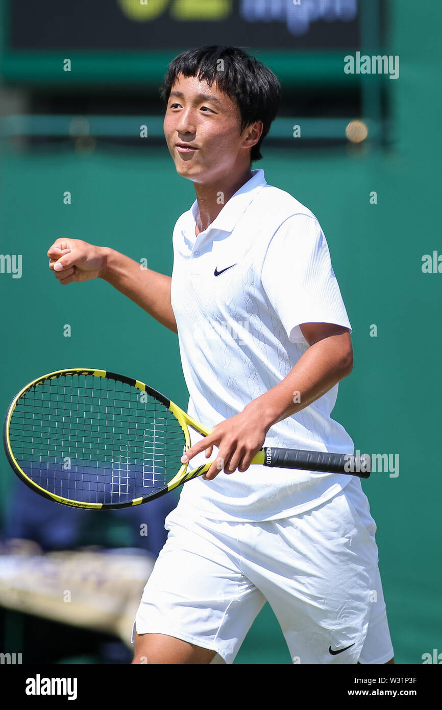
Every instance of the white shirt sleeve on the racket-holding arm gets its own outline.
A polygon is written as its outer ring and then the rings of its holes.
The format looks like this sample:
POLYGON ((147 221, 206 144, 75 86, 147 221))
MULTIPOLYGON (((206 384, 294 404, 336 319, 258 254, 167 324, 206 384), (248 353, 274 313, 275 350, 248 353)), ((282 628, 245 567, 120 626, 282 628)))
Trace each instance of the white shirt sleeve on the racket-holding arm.
POLYGON ((305 342, 302 323, 334 323, 351 332, 316 217, 293 214, 282 222, 265 253, 261 283, 291 342, 305 342))

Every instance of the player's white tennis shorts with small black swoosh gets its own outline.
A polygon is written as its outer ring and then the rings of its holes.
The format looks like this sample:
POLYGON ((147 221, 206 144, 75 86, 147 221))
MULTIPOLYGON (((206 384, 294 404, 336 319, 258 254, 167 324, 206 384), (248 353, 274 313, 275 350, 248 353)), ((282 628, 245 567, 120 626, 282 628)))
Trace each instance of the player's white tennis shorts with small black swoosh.
POLYGON ((267 600, 293 663, 393 657, 376 525, 360 479, 307 513, 264 523, 207 520, 179 503, 165 528, 133 624, 138 634, 174 636, 216 651, 212 662, 232 663, 267 600))

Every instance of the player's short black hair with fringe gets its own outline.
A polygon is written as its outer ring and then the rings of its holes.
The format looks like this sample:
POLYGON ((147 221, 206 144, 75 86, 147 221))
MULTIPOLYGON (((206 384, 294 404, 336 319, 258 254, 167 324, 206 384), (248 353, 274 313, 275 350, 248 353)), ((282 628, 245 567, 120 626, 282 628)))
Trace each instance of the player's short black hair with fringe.
POLYGON ((207 45, 189 49, 175 57, 167 69, 160 88, 166 107, 179 73, 184 77, 197 77, 200 81, 206 81, 210 87, 216 82, 219 90, 238 105, 241 113, 240 133, 254 121, 263 121, 260 140, 250 151, 250 163, 260 160, 263 157, 260 144, 267 136, 280 105, 281 86, 275 74, 238 47, 207 45))

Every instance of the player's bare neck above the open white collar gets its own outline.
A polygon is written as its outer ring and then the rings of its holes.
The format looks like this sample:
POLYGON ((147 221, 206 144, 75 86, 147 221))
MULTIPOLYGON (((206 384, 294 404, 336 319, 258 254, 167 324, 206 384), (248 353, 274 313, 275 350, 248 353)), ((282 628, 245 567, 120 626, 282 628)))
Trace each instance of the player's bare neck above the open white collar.
POLYGON ((216 178, 215 182, 205 182, 204 185, 194 182, 198 202, 197 226, 195 229, 197 235, 214 222, 226 202, 252 177, 252 171, 250 167, 247 167, 239 175, 223 175, 220 178, 216 178))

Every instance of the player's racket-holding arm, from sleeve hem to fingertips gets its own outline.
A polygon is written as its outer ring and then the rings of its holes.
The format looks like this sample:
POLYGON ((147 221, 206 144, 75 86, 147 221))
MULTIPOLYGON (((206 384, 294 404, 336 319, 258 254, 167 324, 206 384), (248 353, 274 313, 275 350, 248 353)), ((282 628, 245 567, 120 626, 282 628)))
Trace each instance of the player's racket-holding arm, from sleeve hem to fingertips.
POLYGON ((348 328, 331 323, 303 323, 300 329, 309 348, 284 379, 248 404, 241 413, 214 427, 208 437, 187 451, 182 461, 213 447, 219 454, 206 479, 221 470, 245 471, 263 447, 270 427, 319 399, 353 369, 353 347, 348 328))

